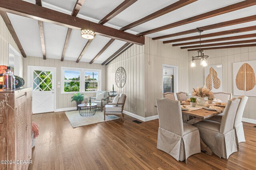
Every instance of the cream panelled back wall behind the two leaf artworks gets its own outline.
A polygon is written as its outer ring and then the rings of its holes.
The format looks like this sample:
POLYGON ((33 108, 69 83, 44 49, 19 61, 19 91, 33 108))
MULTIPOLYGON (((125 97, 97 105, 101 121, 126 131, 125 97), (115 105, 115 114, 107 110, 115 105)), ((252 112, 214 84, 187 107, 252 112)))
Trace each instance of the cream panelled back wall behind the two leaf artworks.
MULTIPOLYGON (((234 49, 218 49, 205 50, 205 55, 209 55, 207 59, 208 65, 222 64, 222 82, 223 91, 233 92, 233 63, 241 61, 256 60, 256 47, 243 47, 234 49)), ((189 58, 197 55, 196 51, 189 52, 189 58)), ((197 61, 196 67, 190 67, 189 60, 189 91, 197 86, 204 85, 204 67, 200 66, 200 60, 197 61)), ((234 96, 238 97, 238 96, 234 96)), ((256 119, 256 97, 249 97, 244 110, 244 118, 256 119)))

